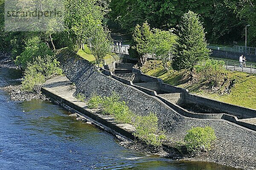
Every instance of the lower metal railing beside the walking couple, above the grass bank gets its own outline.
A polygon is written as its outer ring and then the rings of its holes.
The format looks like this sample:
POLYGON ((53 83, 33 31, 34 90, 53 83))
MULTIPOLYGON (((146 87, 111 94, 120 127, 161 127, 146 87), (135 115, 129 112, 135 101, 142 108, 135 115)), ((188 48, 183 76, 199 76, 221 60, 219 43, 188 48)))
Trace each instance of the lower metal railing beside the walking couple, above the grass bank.
POLYGON ((247 62, 239 62, 218 58, 211 58, 213 60, 224 61, 224 67, 227 70, 239 71, 239 72, 247 72, 247 73, 256 73, 256 63, 247 63, 247 62))

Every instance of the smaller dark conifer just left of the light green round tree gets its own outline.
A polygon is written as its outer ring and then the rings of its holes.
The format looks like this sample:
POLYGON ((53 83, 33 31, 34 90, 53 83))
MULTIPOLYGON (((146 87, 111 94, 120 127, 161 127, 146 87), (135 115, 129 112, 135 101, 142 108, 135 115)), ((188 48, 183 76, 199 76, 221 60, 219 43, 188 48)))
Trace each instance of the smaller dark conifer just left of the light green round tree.
POLYGON ((130 44, 129 54, 131 57, 138 58, 141 65, 147 61, 147 52, 151 38, 151 30, 147 22, 142 26, 137 25, 130 44))

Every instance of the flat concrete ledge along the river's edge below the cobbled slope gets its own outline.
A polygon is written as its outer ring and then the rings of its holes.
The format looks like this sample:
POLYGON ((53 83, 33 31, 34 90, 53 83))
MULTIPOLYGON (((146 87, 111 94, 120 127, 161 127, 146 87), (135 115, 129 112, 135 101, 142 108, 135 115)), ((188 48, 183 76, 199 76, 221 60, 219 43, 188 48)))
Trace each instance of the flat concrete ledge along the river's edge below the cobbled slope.
MULTIPOLYGON (((65 76, 47 80, 42 87, 42 92, 52 98, 52 101, 55 101, 56 104, 75 113, 73 116, 77 114, 77 120, 91 122, 97 127, 112 133, 120 141, 119 144, 125 148, 152 155, 171 156, 163 150, 163 147, 152 147, 142 141, 135 140, 133 135, 135 128, 130 124, 116 123, 113 117, 102 115, 98 109, 88 109, 85 102, 81 102, 74 97, 76 86, 65 76)), ((176 153, 172 153, 171 157, 177 157, 176 153)))

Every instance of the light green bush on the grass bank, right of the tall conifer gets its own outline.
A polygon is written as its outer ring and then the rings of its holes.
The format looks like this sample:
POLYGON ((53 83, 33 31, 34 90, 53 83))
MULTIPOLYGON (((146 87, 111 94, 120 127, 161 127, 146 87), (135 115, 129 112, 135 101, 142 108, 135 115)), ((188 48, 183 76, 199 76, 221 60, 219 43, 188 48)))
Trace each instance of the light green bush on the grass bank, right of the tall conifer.
POLYGON ((201 73, 212 86, 220 84, 224 73, 224 61, 206 60, 195 66, 196 72, 201 73))

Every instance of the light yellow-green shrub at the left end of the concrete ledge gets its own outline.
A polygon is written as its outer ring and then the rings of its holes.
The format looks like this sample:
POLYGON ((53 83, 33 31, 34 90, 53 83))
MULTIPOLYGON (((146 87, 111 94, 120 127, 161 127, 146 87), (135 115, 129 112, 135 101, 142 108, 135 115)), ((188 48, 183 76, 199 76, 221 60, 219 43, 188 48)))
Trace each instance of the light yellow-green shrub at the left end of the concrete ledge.
POLYGON ((28 67, 24 73, 24 79, 22 81, 21 90, 23 91, 33 91, 38 94, 41 93, 41 85, 44 83, 44 75, 38 72, 37 69, 32 65, 28 64, 28 67))

